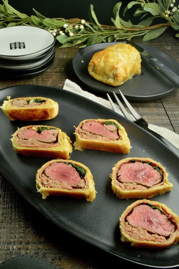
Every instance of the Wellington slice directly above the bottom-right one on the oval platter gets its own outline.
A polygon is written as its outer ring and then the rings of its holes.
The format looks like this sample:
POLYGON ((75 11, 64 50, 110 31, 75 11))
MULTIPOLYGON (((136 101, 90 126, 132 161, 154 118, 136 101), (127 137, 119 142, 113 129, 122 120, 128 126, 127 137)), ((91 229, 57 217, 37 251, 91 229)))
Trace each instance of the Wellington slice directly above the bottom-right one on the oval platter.
POLYGON ((112 179, 112 190, 119 199, 151 198, 169 192, 173 187, 163 165, 151 158, 130 157, 120 160, 109 176, 112 179))

